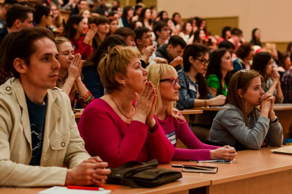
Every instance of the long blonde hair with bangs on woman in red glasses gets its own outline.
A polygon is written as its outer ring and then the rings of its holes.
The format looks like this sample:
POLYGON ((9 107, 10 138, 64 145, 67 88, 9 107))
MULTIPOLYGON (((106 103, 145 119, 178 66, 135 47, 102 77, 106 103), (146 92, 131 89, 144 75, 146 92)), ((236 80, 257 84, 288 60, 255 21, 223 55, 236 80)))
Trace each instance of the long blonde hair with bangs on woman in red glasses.
MULTIPOLYGON (((160 94, 159 80, 167 79, 169 77, 177 77, 177 71, 171 65, 166 64, 152 64, 146 67, 146 70, 149 71, 147 75, 147 80, 151 81, 156 88, 155 91, 157 94, 157 101, 155 105, 154 114, 158 114, 162 109, 162 99, 160 94)), ((166 108, 166 113, 176 118, 177 120, 178 119, 185 120, 184 117, 180 115, 179 110, 175 108, 176 105, 177 103, 175 101, 170 102, 166 108)))

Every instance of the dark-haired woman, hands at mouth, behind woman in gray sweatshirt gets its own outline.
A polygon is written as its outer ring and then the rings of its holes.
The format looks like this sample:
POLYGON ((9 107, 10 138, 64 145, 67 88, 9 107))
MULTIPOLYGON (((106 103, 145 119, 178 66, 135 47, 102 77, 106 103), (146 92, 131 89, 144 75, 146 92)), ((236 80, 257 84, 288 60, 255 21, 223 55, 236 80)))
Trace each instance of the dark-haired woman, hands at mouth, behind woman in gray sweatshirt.
POLYGON ((273 63, 274 60, 271 54, 259 52, 254 56, 252 68, 264 77, 261 85, 264 92, 273 94, 276 97, 275 103, 283 103, 280 75, 274 69, 273 63))

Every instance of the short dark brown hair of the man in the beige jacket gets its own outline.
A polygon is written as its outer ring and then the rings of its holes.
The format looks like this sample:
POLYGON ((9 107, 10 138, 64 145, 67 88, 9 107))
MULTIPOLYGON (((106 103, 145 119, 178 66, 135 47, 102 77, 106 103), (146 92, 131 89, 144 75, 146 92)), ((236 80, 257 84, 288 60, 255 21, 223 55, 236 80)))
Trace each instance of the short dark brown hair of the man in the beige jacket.
POLYGON ((53 42, 55 41, 54 34, 45 27, 29 27, 15 33, 15 37, 7 47, 3 61, 4 71, 12 72, 14 77, 18 78, 19 73, 14 69, 14 60, 20 58, 29 65, 31 55, 36 52, 34 42, 41 38, 49 38, 53 42))

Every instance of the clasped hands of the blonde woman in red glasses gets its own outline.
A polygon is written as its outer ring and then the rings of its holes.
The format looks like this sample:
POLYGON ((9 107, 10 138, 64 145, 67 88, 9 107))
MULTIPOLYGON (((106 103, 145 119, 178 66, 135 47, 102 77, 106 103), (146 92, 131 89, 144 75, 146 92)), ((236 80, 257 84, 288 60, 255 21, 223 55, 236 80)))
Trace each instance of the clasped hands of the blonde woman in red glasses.
POLYGON ((210 150, 211 160, 233 160, 236 156, 236 150, 228 145, 222 148, 210 150))

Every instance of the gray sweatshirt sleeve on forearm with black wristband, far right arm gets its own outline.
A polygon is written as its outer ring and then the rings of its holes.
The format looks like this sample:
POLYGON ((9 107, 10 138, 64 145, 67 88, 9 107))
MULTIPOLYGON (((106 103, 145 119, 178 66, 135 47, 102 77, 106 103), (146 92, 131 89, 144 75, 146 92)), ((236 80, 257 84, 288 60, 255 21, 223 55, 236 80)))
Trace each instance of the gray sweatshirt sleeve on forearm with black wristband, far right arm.
POLYGON ((264 142, 273 147, 280 147, 282 145, 283 129, 279 121, 269 124, 269 131, 264 142))

